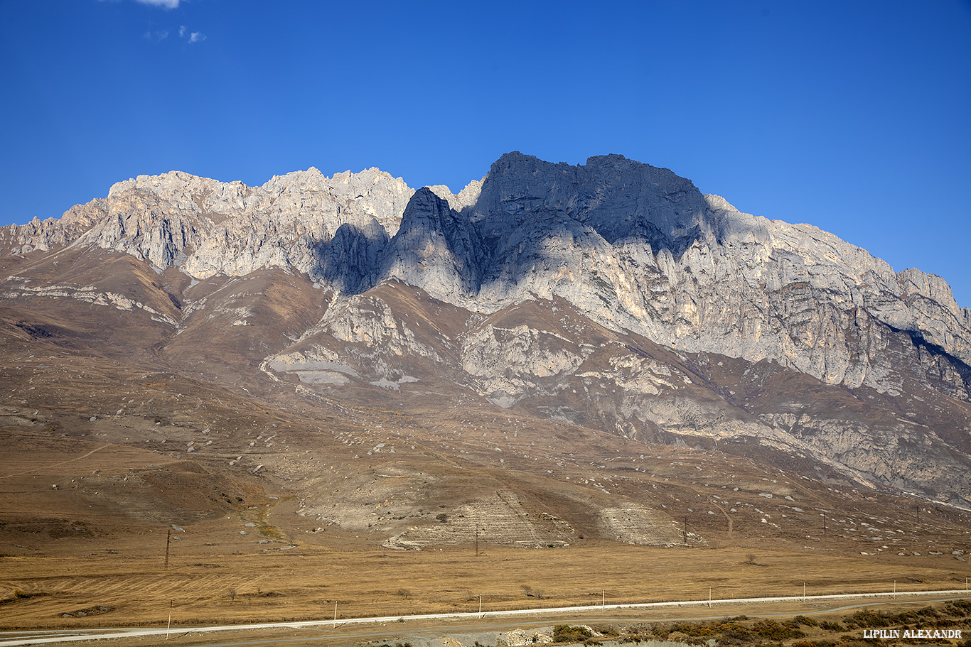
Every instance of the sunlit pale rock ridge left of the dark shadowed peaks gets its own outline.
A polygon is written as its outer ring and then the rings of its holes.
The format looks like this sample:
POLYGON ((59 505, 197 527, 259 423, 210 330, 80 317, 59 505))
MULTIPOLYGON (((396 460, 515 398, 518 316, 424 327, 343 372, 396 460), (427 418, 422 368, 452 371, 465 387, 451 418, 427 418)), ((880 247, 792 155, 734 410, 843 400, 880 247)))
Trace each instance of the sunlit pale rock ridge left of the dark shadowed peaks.
POLYGON ((335 273, 324 259, 342 254, 328 248, 341 226, 386 239, 413 193, 378 169, 326 178, 312 167, 258 187, 170 172, 117 182, 107 198, 59 220, 4 228, 0 241, 14 253, 72 243, 114 249, 197 278, 270 267, 326 277, 335 273))

